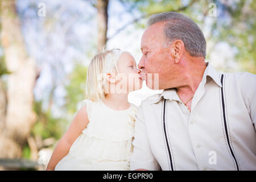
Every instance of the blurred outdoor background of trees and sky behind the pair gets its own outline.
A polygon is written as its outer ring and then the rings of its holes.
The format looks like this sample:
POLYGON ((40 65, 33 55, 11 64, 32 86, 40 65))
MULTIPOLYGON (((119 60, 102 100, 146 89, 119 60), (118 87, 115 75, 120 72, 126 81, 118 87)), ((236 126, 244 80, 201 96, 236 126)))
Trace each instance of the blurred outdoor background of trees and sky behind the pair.
POLYGON ((252 0, 44 0, 45 16, 36 0, 0 3, 0 158, 37 160, 39 151, 52 151, 84 99, 89 61, 105 45, 138 61, 155 13, 195 20, 218 71, 256 73, 252 0))

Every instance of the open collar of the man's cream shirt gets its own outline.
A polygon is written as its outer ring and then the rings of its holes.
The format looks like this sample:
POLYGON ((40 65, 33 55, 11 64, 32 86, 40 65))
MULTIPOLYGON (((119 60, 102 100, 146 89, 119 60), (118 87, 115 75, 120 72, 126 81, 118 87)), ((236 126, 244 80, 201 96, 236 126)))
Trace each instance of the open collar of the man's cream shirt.
MULTIPOLYGON (((219 73, 212 67, 212 65, 209 62, 207 62, 206 64, 207 64, 207 68, 204 71, 204 75, 202 79, 202 81, 204 82, 204 85, 207 81, 207 76, 209 76, 213 79, 214 82, 216 82, 218 86, 222 87, 219 73)), ((170 89, 164 89, 162 94, 160 94, 160 96, 158 95, 157 98, 153 97, 151 99, 151 104, 156 104, 157 102, 162 100, 162 98, 179 101, 179 97, 176 94, 176 88, 170 88, 170 89)))

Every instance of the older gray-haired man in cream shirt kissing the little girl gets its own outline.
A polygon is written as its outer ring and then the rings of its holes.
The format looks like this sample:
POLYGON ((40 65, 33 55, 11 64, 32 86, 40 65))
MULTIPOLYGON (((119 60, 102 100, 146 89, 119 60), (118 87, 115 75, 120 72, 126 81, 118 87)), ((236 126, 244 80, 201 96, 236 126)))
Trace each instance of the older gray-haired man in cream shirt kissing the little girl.
POLYGON ((205 63, 203 33, 175 12, 150 17, 141 49, 147 86, 164 90, 138 109, 130 169, 256 170, 256 76, 205 63))

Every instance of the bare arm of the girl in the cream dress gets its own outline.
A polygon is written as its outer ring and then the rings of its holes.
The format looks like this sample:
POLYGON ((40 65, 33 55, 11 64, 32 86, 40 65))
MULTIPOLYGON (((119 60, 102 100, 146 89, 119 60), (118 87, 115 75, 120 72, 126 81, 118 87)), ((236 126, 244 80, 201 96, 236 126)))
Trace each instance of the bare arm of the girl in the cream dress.
POLYGON ((51 159, 49 160, 46 170, 54 170, 57 163, 68 154, 70 147, 73 142, 79 137, 82 133, 82 130, 85 129, 89 123, 88 114, 86 106, 82 107, 76 114, 75 118, 71 122, 66 133, 57 143, 55 150, 52 153, 51 159))

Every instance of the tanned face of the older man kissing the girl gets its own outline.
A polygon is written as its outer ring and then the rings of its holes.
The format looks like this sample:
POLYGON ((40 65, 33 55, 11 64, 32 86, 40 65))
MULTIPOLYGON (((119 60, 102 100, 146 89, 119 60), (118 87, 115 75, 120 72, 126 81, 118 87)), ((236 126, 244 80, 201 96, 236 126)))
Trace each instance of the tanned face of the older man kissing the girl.
POLYGON ((164 22, 152 24, 142 35, 141 50, 143 55, 138 68, 142 69, 141 76, 143 80, 146 80, 150 89, 166 89, 167 81, 172 75, 173 60, 170 55, 170 47, 166 46, 166 43, 164 22), (150 73, 152 73, 152 78, 150 73))

